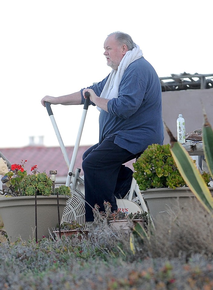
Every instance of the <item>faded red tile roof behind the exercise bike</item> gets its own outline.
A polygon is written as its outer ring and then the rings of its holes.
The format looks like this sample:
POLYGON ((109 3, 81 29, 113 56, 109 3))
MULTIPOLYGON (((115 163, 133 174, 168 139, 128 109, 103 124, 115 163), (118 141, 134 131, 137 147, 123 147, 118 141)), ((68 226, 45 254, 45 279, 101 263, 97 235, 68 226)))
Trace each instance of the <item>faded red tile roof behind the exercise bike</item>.
MULTIPOLYGON (((78 153, 75 162, 75 168, 80 168, 82 176, 82 155, 90 146, 79 146, 78 153)), ((67 154, 72 157, 74 147, 66 147, 67 154)), ((21 164, 21 159, 27 160, 25 164, 25 170, 30 173, 31 166, 37 165, 40 172, 45 171, 49 175, 50 170, 57 170, 57 177, 67 176, 68 167, 64 160, 63 153, 60 147, 45 147, 45 146, 27 146, 21 148, 0 148, 0 151, 4 156, 13 164, 21 164)), ((132 163, 129 161, 126 163, 131 169, 133 169, 132 163)))

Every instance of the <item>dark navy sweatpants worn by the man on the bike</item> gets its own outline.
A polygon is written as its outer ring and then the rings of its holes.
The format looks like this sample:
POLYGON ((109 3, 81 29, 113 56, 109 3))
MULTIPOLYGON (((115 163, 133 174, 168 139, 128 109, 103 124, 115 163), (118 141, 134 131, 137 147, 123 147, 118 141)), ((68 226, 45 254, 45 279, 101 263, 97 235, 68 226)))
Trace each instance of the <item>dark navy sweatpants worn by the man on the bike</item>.
MULTIPOLYGON (((130 189, 133 171, 123 165, 134 155, 114 144, 115 136, 95 144, 83 154, 85 200, 94 208, 97 204, 100 211, 105 211, 103 202, 109 201, 111 211, 117 210, 116 198, 123 198, 130 189)), ((93 221, 92 208, 85 203, 86 221, 93 221)))

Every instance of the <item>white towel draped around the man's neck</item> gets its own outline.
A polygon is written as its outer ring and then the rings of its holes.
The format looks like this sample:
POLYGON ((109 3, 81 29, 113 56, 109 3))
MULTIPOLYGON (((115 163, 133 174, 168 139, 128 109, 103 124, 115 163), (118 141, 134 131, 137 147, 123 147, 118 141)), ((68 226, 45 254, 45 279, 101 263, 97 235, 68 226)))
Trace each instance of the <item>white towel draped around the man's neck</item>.
MULTIPOLYGON (((118 97, 118 88, 126 68, 129 66, 130 63, 141 58, 142 55, 142 50, 140 50, 138 45, 136 45, 133 50, 128 50, 126 52, 118 66, 118 70, 113 69, 110 72, 106 84, 103 87, 103 91, 100 94, 100 98, 111 100, 112 98, 118 97)), ((101 108, 97 107, 97 109, 101 111, 101 108)))

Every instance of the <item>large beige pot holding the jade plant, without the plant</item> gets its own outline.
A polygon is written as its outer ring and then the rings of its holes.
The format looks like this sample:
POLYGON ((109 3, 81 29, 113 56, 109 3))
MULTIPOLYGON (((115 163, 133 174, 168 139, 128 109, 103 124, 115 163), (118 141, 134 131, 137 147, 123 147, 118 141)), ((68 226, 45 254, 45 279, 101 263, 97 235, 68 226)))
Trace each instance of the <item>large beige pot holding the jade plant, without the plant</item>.
MULTIPOLYGON (((213 188, 209 189, 213 194, 213 188)), ((189 202, 196 198, 188 187, 152 188, 141 191, 141 193, 154 222, 156 218, 168 216, 168 213, 176 212, 180 207, 187 210, 189 202)))

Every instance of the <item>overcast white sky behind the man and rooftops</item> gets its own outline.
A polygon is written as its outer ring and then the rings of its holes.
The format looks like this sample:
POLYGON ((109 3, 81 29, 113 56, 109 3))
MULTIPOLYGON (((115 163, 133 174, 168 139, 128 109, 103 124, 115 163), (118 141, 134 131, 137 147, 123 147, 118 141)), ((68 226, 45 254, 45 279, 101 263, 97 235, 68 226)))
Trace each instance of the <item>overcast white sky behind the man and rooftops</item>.
MULTIPOLYGON (((0 148, 27 146, 29 136, 59 145, 41 98, 105 78, 113 31, 131 35, 159 77, 212 73, 212 8, 211 0, 0 1, 0 148)), ((51 107, 64 145, 74 145, 83 106, 51 107)), ((98 116, 90 106, 80 145, 98 142, 98 116)))

